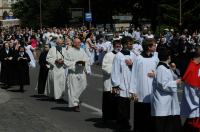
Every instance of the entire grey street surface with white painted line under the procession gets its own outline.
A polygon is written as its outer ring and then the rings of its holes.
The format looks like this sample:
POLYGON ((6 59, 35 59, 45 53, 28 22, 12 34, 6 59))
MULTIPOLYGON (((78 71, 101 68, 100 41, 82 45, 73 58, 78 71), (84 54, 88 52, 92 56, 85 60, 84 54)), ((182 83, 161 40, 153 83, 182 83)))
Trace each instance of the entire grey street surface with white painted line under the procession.
MULTIPOLYGON (((67 102, 37 95, 39 67, 30 69, 31 85, 25 92, 18 86, 0 89, 0 132, 115 132, 114 123, 101 120, 103 80, 101 67, 94 65, 88 86, 81 95, 81 112, 73 112, 67 102)), ((133 124, 133 103, 131 104, 133 124)))

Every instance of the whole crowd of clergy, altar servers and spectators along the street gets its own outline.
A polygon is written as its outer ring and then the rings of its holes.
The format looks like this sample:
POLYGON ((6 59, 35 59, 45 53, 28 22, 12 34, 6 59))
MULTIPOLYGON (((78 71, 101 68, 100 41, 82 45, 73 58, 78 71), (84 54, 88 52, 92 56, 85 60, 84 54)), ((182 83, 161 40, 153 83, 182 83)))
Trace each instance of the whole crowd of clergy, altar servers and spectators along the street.
POLYGON ((30 85, 29 69, 40 65, 36 90, 68 101, 80 112, 79 97, 91 66, 103 74, 102 120, 135 132, 200 131, 200 33, 149 27, 112 32, 84 28, 17 28, 0 36, 2 88, 30 85), (39 51, 39 52, 38 52, 39 51), (183 90, 182 99, 178 91, 183 90), (181 117, 186 118, 181 125, 181 117))

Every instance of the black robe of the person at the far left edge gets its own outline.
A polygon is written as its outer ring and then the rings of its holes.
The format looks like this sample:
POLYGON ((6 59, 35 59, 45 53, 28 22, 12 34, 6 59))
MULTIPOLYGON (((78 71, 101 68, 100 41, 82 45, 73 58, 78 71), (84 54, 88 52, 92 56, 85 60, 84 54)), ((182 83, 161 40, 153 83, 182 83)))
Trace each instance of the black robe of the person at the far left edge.
POLYGON ((0 61, 1 61, 1 75, 0 80, 2 83, 7 85, 15 84, 15 60, 14 60, 14 51, 9 49, 8 53, 6 49, 1 49, 0 51, 0 61), (12 57, 12 60, 5 60, 5 58, 12 57))

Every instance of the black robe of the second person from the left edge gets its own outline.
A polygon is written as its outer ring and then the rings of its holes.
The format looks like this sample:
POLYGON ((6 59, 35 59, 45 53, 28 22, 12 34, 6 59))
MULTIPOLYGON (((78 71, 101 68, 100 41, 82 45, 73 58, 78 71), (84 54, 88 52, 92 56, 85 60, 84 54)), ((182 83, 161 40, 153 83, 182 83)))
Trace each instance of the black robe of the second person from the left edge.
POLYGON ((16 53, 15 59, 16 62, 16 84, 17 85, 29 85, 30 77, 29 77, 29 62, 31 61, 29 55, 24 52, 24 55, 21 56, 19 52, 16 53), (19 57, 26 57, 27 59, 19 59, 19 57))

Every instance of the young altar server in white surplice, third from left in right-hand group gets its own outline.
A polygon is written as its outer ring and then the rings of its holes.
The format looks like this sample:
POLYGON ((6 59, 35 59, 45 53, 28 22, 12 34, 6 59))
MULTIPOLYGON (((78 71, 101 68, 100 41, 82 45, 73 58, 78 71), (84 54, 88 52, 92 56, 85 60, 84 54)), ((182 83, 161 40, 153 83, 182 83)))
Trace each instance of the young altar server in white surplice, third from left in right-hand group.
POLYGON ((134 129, 146 132, 151 129, 152 82, 159 60, 154 39, 144 40, 142 47, 143 52, 133 63, 131 86, 136 87, 138 97, 134 104, 134 129))

